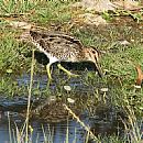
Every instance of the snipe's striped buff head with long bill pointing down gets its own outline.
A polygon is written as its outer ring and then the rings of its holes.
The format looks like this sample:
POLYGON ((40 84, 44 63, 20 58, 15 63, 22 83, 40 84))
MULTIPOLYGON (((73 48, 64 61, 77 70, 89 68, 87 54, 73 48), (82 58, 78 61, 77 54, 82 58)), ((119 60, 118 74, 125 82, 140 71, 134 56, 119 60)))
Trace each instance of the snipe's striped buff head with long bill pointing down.
POLYGON ((98 75, 102 77, 102 70, 98 63, 99 52, 92 47, 89 47, 89 48, 87 47, 85 48, 85 55, 86 55, 87 61, 92 62, 95 64, 98 75))

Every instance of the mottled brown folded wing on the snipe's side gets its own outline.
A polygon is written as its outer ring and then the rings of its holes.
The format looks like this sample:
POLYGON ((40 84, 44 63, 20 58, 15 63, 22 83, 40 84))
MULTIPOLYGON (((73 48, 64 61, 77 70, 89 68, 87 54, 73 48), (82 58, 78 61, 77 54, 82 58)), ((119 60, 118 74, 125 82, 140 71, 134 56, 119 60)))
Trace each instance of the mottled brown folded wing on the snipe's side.
POLYGON ((73 56, 77 57, 82 54, 82 47, 80 47, 77 43, 67 41, 65 38, 41 38, 38 44, 44 51, 59 59, 68 58, 70 61, 73 56))

